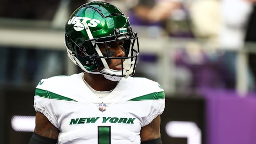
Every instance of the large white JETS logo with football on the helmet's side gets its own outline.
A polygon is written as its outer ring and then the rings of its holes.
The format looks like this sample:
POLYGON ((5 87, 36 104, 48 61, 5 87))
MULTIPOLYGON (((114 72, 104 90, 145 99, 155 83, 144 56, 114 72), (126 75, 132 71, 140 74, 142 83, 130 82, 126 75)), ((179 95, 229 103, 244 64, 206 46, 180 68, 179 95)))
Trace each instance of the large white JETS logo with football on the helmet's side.
POLYGON ((96 27, 99 23, 100 20, 96 19, 91 19, 89 17, 76 17, 73 16, 69 21, 68 25, 74 25, 74 29, 76 31, 82 31, 85 29, 84 23, 87 23, 89 27, 96 27))

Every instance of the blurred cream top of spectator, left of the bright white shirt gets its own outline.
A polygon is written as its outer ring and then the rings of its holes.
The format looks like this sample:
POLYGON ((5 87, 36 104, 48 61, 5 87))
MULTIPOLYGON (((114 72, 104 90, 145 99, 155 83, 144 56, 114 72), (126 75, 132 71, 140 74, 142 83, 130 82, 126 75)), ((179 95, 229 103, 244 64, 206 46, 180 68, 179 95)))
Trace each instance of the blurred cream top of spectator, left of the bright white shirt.
POLYGON ((217 41, 221 25, 219 0, 193 0, 189 5, 192 31, 197 38, 217 41))

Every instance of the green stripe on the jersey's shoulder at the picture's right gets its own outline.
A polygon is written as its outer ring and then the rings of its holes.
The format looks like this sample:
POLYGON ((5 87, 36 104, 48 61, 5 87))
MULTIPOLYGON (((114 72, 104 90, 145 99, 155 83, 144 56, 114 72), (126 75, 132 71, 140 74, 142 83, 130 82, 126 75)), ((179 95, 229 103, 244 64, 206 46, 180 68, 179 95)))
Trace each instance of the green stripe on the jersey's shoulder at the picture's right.
POLYGON ((165 98, 164 91, 160 91, 160 92, 153 92, 151 94, 135 97, 128 101, 160 100, 160 99, 164 99, 164 98, 165 98))

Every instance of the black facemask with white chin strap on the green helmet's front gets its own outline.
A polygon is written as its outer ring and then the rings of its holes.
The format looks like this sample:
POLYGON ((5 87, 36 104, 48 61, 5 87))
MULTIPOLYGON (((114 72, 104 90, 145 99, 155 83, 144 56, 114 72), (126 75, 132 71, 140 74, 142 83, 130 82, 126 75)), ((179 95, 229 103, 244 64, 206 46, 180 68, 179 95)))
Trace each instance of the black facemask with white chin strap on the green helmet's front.
POLYGON ((138 38, 136 36, 137 34, 133 33, 130 27, 129 30, 129 33, 126 32, 120 34, 116 32, 120 31, 120 29, 116 29, 114 36, 89 39, 85 41, 80 47, 80 50, 85 55, 85 57, 90 57, 94 59, 98 73, 103 74, 106 79, 112 81, 119 81, 123 77, 128 78, 128 76, 134 75, 134 68, 139 54, 138 38), (88 45, 88 42, 92 44, 94 54, 86 53, 86 45, 88 45), (114 57, 113 52, 110 52, 108 50, 107 46, 109 43, 122 43, 123 47, 120 48, 124 52, 124 57, 114 57), (104 46, 105 50, 102 50, 102 52, 99 46, 101 47, 101 49, 102 46, 104 46), (121 70, 111 69, 109 67, 112 60, 120 60, 120 64, 118 67, 120 67, 121 70))

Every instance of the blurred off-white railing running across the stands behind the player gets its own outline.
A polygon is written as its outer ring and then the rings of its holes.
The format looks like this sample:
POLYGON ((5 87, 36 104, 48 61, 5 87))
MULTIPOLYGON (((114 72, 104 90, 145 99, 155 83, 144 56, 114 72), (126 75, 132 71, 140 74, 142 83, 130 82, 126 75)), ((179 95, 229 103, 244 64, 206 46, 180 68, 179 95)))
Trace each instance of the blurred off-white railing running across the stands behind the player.
MULTIPOLYGON (((175 64, 171 57, 175 49, 186 48, 189 43, 197 43, 202 48, 214 47, 213 43, 204 40, 170 38, 170 37, 139 37, 140 53, 153 53, 158 55, 158 67, 161 69, 157 75, 157 81, 165 89, 166 94, 175 92, 175 64)), ((36 29, 36 28, 13 28, 0 26, 0 45, 16 46, 22 48, 40 48, 66 50, 64 45, 64 30, 36 29)), ((256 53, 256 44, 248 43, 246 48, 234 49, 238 52, 238 62, 236 66, 236 90, 243 96, 248 92, 248 52, 256 53)), ((223 49, 225 50, 225 49, 223 49)), ((230 50, 230 49, 229 49, 230 50)), ((68 60, 67 74, 76 73, 76 67, 68 60)))

